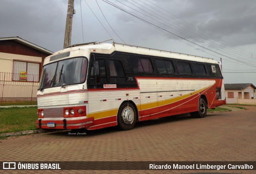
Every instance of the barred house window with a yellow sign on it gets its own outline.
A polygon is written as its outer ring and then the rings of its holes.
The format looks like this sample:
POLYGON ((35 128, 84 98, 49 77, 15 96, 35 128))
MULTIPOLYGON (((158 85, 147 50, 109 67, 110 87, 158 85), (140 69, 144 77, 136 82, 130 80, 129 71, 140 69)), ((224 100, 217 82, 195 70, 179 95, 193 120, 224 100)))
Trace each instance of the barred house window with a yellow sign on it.
POLYGON ((12 80, 14 81, 39 81, 40 63, 13 61, 12 80))

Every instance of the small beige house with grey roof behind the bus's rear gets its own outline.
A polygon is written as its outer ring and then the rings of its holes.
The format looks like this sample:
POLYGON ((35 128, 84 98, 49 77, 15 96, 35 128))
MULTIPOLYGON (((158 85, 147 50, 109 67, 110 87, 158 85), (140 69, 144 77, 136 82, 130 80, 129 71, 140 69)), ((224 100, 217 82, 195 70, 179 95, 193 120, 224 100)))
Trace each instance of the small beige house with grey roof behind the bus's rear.
POLYGON ((251 83, 224 84, 227 104, 254 104, 256 86, 251 83))

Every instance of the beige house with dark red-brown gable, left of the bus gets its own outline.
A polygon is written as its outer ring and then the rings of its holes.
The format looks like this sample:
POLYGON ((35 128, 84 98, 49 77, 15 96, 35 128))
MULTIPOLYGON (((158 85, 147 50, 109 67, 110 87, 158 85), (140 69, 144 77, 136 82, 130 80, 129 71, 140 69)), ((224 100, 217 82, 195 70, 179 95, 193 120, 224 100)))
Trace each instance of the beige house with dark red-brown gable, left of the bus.
POLYGON ((20 37, 0 38, 1 104, 35 98, 44 58, 52 53, 20 37))

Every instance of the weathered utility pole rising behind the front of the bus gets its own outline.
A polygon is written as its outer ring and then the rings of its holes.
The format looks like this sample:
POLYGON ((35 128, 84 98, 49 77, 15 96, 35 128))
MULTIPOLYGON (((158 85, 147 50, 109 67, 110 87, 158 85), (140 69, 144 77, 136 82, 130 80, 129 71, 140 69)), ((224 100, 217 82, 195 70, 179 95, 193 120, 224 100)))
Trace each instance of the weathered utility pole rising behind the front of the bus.
POLYGON ((69 45, 71 45, 71 33, 72 33, 73 14, 75 14, 74 0, 68 0, 68 12, 67 12, 67 20, 66 20, 64 48, 66 48, 69 45))

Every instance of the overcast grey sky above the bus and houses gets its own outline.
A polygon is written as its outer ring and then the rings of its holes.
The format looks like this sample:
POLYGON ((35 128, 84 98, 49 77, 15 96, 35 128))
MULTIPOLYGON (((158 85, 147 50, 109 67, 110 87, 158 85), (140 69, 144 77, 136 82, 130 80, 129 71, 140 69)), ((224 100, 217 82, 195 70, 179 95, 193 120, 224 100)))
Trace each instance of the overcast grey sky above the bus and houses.
MULTIPOLYGON (((2 0, 0 37, 61 50, 67 7, 68 0, 2 0)), ((224 83, 256 85, 254 0, 74 0, 74 9, 71 44, 113 39, 222 58, 224 83)))

